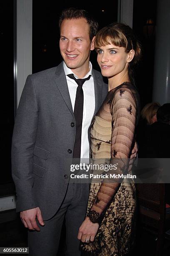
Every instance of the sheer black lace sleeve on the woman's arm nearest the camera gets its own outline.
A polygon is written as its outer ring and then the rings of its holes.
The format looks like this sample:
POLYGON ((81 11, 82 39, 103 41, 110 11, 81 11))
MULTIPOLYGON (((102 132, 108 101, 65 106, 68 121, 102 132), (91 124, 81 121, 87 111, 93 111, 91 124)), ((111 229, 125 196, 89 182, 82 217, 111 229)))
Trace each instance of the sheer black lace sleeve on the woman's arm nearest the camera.
MULTIPOLYGON (((129 88, 110 91, 110 113, 112 115, 111 159, 110 164, 118 164, 116 170, 107 172, 124 174, 128 169, 128 158, 134 145, 137 104, 135 96, 129 88)), ((122 178, 103 179, 88 217, 93 223, 100 223, 116 194, 122 178)))

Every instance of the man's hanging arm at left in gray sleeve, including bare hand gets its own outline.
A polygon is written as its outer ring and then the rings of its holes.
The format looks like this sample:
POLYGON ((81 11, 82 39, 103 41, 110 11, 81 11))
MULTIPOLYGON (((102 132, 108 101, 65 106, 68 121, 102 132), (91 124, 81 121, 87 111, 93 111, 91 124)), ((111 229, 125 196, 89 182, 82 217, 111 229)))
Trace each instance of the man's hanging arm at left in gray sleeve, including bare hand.
POLYGON ((22 221, 35 229, 35 217, 41 221, 40 209, 33 195, 33 150, 35 146, 38 122, 37 95, 31 76, 28 76, 21 95, 15 120, 12 140, 12 176, 16 188, 16 208, 21 212, 22 221), (31 209, 31 210, 29 210, 31 209), (29 220, 28 220, 29 219, 29 220))

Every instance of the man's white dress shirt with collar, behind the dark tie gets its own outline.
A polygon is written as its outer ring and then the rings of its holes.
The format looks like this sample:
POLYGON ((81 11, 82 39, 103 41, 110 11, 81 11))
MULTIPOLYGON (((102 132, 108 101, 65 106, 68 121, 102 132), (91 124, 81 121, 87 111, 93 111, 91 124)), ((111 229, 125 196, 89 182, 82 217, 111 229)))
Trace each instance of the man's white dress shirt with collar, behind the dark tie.
MULTIPOLYGON (((76 97, 76 91, 77 91, 77 83, 74 79, 71 79, 68 77, 68 74, 74 74, 71 69, 69 69, 65 62, 63 62, 63 67, 67 79, 67 85, 68 90, 70 93, 70 99, 72 104, 72 109, 74 110, 75 105, 75 97, 76 97)), ((90 71, 85 75, 86 78, 89 75, 91 75, 90 79, 85 81, 85 83, 82 85, 82 90, 84 94, 84 102, 83 102, 83 116, 82 116, 82 134, 81 134, 81 159, 89 159, 89 141, 88 141, 88 128, 90 126, 92 117, 95 112, 95 87, 94 87, 94 80, 92 76, 92 64, 90 62, 89 64, 90 71)), ((74 74, 75 78, 78 79, 74 74)))

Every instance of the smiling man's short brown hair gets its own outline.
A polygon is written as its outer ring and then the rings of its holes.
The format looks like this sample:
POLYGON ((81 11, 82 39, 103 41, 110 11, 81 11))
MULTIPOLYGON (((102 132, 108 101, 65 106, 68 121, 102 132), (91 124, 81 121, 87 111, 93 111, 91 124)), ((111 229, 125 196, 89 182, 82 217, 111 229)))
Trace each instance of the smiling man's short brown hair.
POLYGON ((89 14, 87 11, 77 8, 67 8, 62 11, 59 17, 59 29, 61 28, 61 23, 63 20, 72 20, 72 19, 80 19, 85 18, 87 20, 87 24, 89 25, 90 31, 90 41, 96 35, 98 30, 97 21, 89 14))

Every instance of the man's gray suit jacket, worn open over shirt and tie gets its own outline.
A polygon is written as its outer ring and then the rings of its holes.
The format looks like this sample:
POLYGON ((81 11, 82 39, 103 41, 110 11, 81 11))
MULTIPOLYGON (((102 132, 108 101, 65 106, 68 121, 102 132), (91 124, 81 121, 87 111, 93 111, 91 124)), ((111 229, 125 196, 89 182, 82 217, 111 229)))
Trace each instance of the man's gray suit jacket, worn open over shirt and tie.
MULTIPOLYGON (((107 95, 107 84, 93 70, 95 114, 107 95)), ((67 81, 61 63, 29 75, 18 107, 12 142, 12 175, 17 212, 40 207, 51 218, 65 196, 72 157, 75 123, 67 81)))

